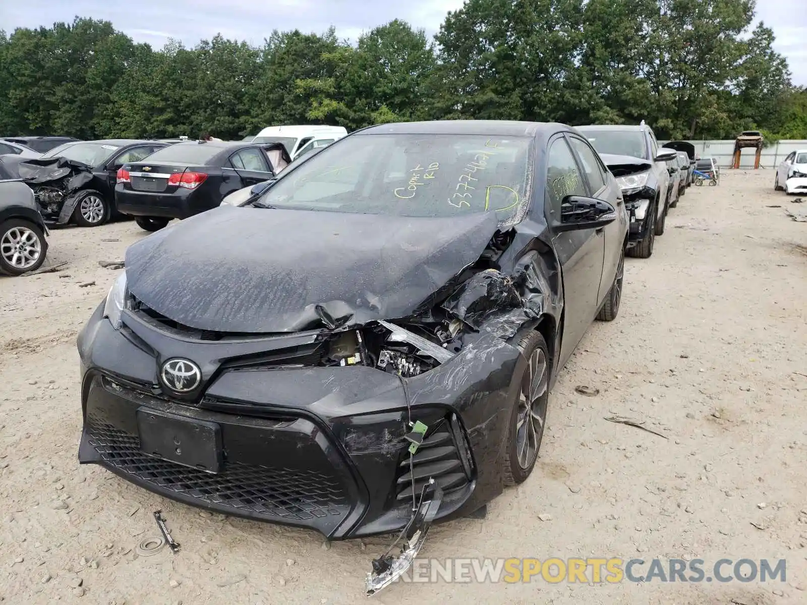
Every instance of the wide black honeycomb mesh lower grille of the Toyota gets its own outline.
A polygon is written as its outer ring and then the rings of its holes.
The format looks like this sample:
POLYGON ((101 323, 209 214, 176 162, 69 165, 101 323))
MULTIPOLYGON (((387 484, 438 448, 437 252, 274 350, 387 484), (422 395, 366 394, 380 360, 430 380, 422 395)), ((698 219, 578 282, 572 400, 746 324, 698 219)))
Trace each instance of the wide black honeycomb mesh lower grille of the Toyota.
POLYGON ((306 469, 225 462, 219 474, 178 465, 140 450, 140 439, 88 416, 90 445, 104 463, 153 486, 158 493, 223 512, 296 524, 328 517, 336 525, 349 514, 348 494, 336 476, 306 469))

